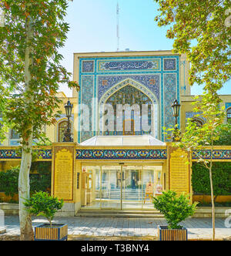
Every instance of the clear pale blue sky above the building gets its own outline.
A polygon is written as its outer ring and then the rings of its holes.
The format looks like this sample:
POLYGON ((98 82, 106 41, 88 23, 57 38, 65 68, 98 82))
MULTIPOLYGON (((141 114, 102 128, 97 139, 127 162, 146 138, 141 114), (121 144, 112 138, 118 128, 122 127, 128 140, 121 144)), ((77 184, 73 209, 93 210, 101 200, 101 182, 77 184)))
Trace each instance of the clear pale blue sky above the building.
MULTIPOLYGON (((153 0, 118 0, 120 7, 120 47, 133 51, 172 49, 173 41, 166 39, 167 28, 159 28, 154 21, 158 5, 153 0)), ((114 52, 116 38, 117 0, 73 0, 69 4, 66 21, 70 31, 62 65, 73 72, 73 52, 114 52)), ((61 86, 66 96, 72 92, 61 86)), ((201 94, 202 86, 193 86, 192 95, 201 94)), ((226 84, 220 94, 231 94, 231 83, 226 84)))

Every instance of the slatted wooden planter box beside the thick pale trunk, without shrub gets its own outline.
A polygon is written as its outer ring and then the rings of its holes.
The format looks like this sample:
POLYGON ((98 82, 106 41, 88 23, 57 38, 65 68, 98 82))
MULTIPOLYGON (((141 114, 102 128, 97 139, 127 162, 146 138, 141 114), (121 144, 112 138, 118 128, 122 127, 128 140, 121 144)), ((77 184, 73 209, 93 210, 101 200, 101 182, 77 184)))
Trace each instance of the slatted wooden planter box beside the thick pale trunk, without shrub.
POLYGON ((42 224, 35 227, 35 241, 67 241, 67 224, 42 224))

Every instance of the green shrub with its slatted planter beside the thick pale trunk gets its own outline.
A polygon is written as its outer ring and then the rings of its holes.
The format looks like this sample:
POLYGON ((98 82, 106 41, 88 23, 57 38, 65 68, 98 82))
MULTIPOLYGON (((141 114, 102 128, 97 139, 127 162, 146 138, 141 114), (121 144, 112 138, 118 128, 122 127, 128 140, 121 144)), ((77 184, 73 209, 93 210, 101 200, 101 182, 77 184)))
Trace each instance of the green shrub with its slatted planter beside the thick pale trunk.
POLYGON ((35 241, 66 241, 68 238, 67 224, 52 224, 55 213, 62 209, 63 200, 50 196, 45 192, 35 193, 26 200, 25 207, 30 214, 47 218, 49 224, 35 227, 35 241))

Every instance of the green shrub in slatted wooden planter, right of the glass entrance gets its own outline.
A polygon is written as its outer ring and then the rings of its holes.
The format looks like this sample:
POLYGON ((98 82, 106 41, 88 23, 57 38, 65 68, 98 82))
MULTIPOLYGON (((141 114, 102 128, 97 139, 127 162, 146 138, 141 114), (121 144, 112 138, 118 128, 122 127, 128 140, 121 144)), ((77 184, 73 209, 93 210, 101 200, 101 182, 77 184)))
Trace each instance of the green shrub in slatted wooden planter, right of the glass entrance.
POLYGON ((190 204, 187 196, 182 194, 177 197, 176 192, 169 190, 159 197, 153 197, 153 204, 164 215, 168 224, 158 226, 159 241, 187 241, 188 231, 179 223, 194 214, 197 203, 190 204))

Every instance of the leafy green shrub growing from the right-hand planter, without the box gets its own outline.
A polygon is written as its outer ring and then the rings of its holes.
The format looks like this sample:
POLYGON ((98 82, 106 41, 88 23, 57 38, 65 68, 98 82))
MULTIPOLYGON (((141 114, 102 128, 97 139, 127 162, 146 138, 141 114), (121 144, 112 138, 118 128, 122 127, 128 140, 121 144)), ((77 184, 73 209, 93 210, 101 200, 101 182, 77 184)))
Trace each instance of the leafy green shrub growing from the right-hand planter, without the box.
POLYGON ((176 192, 169 190, 163 192, 159 197, 153 197, 156 210, 160 211, 166 218, 169 229, 179 229, 179 223, 192 216, 196 211, 196 203, 190 204, 185 195, 176 196, 176 192))

